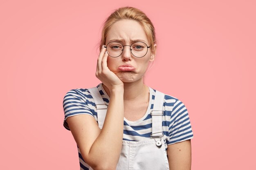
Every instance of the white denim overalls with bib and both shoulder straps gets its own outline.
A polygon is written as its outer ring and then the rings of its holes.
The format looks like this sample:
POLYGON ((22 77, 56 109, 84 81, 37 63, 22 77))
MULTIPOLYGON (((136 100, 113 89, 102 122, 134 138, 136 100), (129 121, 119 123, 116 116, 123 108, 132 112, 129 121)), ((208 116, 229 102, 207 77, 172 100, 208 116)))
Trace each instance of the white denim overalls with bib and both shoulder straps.
MULTIPOLYGON (((88 89, 96 104, 99 128, 102 129, 108 106, 97 87, 88 89)), ((151 139, 123 140, 117 170, 169 170, 162 132, 164 93, 156 91, 152 115, 151 139)), ((89 170, 93 170, 91 167, 89 170)))

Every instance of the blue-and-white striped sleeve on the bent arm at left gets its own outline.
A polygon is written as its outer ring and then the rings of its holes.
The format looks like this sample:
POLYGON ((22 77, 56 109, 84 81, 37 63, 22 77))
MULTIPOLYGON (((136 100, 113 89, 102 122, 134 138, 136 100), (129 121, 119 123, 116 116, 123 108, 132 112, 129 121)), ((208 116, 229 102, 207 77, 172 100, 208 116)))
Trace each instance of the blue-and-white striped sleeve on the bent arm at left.
POLYGON ((70 90, 65 94, 65 97, 63 99, 63 110, 63 126, 67 130, 70 130, 66 121, 67 117, 81 114, 91 115, 93 117, 92 110, 86 103, 85 96, 78 89, 70 90))

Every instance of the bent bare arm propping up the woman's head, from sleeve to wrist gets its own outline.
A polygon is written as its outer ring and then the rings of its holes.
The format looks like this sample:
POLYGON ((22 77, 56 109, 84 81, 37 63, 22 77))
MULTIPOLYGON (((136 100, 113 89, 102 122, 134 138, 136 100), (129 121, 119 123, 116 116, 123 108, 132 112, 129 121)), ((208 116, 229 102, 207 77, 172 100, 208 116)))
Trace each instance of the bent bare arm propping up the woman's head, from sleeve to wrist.
POLYGON ((124 90, 116 88, 111 92, 102 130, 90 115, 67 118, 83 159, 94 170, 115 169, 120 157, 124 130, 124 90))

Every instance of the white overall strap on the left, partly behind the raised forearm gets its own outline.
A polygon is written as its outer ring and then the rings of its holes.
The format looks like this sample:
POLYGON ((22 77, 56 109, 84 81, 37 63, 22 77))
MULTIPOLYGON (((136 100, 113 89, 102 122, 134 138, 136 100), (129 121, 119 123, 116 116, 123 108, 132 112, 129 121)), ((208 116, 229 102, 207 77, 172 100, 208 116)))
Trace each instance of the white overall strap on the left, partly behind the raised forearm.
POLYGON ((97 87, 88 88, 88 90, 91 93, 92 98, 94 99, 94 102, 96 104, 95 107, 97 109, 98 124, 99 124, 99 128, 102 129, 108 106, 104 103, 97 87))

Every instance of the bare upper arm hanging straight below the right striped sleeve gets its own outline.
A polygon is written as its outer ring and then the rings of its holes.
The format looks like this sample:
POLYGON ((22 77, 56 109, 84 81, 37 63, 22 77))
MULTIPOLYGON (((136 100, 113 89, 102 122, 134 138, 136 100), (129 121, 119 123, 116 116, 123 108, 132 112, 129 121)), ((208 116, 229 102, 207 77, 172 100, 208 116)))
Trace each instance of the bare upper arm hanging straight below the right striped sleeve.
POLYGON ((191 170, 191 141, 186 140, 167 146, 170 170, 191 170))

